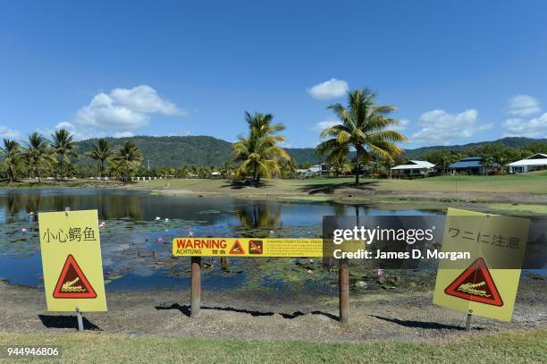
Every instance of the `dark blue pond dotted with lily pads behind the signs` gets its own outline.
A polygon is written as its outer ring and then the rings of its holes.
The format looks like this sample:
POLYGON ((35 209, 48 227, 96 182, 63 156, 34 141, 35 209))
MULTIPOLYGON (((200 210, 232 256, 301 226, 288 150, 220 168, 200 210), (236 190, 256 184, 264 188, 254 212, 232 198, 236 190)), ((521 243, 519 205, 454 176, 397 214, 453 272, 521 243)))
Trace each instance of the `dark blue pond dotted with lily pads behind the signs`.
MULTIPOLYGON (((189 258, 173 258, 171 241, 188 236, 319 236, 325 215, 425 215, 328 203, 173 197, 98 189, 0 190, 0 279, 42 286, 37 213, 97 209, 106 290, 183 289, 189 258)), ((438 213, 438 212, 436 212, 438 213)), ((270 291, 336 292, 336 274, 322 259, 204 258, 205 289, 255 287, 270 291), (334 287, 334 289, 333 289, 334 287)))

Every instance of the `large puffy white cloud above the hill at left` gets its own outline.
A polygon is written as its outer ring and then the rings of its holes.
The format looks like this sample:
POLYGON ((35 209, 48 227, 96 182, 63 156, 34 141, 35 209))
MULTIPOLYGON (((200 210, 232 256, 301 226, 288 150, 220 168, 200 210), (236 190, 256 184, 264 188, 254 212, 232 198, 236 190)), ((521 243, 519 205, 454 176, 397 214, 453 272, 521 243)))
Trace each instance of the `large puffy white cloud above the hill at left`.
POLYGON ((150 86, 114 89, 93 97, 88 106, 80 108, 73 124, 101 131, 135 131, 150 122, 150 114, 183 115, 172 102, 159 97, 150 86))

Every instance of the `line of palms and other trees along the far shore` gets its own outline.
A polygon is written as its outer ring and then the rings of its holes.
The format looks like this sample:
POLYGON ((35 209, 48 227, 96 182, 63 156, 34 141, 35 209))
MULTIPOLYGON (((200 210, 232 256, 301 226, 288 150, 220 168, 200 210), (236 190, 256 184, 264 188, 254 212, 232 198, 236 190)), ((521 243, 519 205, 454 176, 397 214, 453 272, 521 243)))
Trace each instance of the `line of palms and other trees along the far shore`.
MULTIPOLYGON (((355 89, 348 92, 347 103, 328 106, 338 123, 321 132, 322 142, 316 147, 316 156, 323 158, 328 174, 334 176, 354 174, 359 183, 361 174, 385 177, 390 168, 404 163, 404 151, 397 144, 407 138, 396 131, 399 120, 391 114, 395 106, 378 105, 377 94, 371 89, 355 89)), ((248 181, 259 184, 261 179, 295 178, 299 167, 282 148, 285 137, 283 123, 274 123, 273 114, 245 113, 248 134, 241 136, 232 146, 232 156, 223 165, 144 168, 139 148, 131 141, 113 148, 107 140, 96 140, 89 152, 80 155, 73 135, 67 130, 55 131, 50 139, 33 132, 26 142, 4 139, 0 153, 3 155, 2 173, 12 183, 21 178, 37 178, 43 175, 63 179, 67 176, 88 177, 98 174, 129 182, 132 176, 165 176, 173 178, 219 178, 248 181), (78 164, 83 157, 96 161, 95 165, 78 164)), ((176 152, 176 151, 173 151, 176 152)), ((466 150, 433 150, 420 159, 437 165, 446 173, 448 166, 462 157, 482 157, 491 173, 504 173, 504 165, 534 153, 547 152, 547 145, 534 143, 526 148, 505 147, 489 144, 466 150)))

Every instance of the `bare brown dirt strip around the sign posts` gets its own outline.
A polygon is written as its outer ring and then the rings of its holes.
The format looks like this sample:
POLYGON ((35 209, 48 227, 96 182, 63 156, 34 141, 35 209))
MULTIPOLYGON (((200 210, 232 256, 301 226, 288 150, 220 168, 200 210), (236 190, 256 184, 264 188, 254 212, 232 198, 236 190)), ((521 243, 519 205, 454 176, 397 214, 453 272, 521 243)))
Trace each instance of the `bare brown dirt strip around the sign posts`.
MULTIPOLYGON (((338 321, 337 300, 321 295, 204 292, 201 317, 189 317, 188 291, 108 292, 106 313, 84 313, 88 329, 163 337, 300 339, 310 342, 421 342, 452 339, 466 316, 433 306, 431 292, 352 292, 348 325, 338 321)), ((547 281, 521 279, 513 321, 475 317, 471 334, 547 327, 547 281)), ((46 311, 42 289, 0 282, 0 322, 7 333, 66 332, 70 313, 46 311)))

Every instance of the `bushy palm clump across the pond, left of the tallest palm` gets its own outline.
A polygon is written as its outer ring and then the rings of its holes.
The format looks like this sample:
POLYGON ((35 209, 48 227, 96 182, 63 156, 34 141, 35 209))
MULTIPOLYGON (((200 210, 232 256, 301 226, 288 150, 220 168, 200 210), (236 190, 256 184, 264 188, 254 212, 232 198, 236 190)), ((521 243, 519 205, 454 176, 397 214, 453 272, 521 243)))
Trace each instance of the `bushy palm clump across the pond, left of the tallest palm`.
POLYGON ((289 154, 278 143, 285 137, 277 134, 285 129, 282 123, 272 123, 272 114, 245 113, 248 136, 241 136, 233 145, 233 160, 240 165, 236 179, 248 178, 258 184, 261 178, 282 174, 282 165, 290 161, 289 154))

